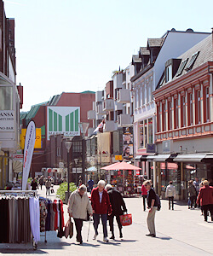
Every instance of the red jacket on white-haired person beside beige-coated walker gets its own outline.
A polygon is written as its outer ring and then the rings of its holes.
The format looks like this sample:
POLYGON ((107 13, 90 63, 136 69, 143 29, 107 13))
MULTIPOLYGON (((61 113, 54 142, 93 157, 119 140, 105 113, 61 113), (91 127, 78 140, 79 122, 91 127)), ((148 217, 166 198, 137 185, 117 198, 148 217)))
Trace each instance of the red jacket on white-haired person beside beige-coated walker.
POLYGON ((101 203, 100 203, 98 187, 93 189, 91 194, 91 203, 92 203, 93 210, 95 210, 95 213, 97 214, 112 213, 112 207, 111 207, 111 204, 109 201, 109 195, 106 189, 103 190, 101 203))

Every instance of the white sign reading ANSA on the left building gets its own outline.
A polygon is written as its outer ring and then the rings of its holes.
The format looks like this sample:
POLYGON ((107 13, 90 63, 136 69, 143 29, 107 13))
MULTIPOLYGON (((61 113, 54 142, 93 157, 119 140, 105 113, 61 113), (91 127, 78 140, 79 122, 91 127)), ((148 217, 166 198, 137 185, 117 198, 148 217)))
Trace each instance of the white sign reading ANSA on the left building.
POLYGON ((0 110, 0 131, 14 131, 14 110, 0 110))

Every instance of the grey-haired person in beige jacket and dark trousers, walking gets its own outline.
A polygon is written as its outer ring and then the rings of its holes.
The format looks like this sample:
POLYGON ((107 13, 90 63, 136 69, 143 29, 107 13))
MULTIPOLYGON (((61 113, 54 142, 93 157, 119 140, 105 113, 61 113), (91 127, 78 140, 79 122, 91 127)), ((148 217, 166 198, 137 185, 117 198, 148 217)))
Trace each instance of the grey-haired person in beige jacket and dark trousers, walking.
POLYGON ((83 220, 87 218, 87 212, 89 212, 90 216, 93 214, 93 209, 90 205, 86 191, 86 186, 81 185, 78 189, 72 192, 68 201, 68 213, 70 217, 74 219, 77 232, 76 241, 80 244, 83 243, 81 235, 83 220))

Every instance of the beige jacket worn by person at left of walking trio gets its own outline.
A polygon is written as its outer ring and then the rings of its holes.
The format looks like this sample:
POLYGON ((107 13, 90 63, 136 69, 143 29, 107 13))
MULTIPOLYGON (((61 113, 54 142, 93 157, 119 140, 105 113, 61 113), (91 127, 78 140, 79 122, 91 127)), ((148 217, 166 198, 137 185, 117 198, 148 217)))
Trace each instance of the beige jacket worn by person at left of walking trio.
POLYGON ((78 189, 72 192, 68 201, 68 213, 71 213, 73 218, 86 219, 87 211, 89 214, 93 213, 87 192, 82 197, 79 195, 78 189))

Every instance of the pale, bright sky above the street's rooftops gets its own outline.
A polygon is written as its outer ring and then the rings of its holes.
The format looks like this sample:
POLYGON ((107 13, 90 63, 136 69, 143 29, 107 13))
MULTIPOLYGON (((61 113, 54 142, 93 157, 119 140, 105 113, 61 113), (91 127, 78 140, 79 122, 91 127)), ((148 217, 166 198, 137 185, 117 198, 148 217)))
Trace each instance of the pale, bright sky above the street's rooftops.
POLYGON ((102 90, 147 38, 171 28, 211 32, 212 0, 5 0, 15 19, 23 110, 55 94, 102 90))

